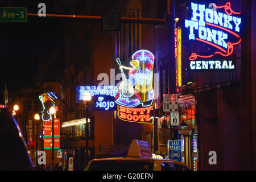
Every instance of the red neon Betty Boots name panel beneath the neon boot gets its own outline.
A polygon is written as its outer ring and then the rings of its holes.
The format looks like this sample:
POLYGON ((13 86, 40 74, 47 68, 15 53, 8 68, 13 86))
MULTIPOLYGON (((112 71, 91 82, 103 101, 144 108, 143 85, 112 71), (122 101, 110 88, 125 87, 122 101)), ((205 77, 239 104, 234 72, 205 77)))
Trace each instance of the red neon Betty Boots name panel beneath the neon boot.
POLYGON ((118 117, 129 122, 152 123, 150 119, 151 108, 152 106, 132 108, 118 105, 118 117))

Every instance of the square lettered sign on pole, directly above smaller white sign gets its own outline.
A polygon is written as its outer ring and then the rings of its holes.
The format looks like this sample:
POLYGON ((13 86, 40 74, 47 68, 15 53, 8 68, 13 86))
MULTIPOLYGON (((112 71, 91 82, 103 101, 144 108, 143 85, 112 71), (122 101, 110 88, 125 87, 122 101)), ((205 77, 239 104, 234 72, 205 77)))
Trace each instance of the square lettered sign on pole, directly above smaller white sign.
POLYGON ((163 111, 178 111, 177 94, 163 94, 163 111))

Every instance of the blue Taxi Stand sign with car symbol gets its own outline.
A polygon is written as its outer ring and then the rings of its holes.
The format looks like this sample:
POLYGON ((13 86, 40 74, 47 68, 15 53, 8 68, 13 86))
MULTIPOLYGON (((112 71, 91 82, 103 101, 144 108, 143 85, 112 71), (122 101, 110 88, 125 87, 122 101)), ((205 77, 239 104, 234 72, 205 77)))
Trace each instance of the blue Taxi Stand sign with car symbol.
POLYGON ((181 140, 168 140, 168 159, 181 162, 181 140))

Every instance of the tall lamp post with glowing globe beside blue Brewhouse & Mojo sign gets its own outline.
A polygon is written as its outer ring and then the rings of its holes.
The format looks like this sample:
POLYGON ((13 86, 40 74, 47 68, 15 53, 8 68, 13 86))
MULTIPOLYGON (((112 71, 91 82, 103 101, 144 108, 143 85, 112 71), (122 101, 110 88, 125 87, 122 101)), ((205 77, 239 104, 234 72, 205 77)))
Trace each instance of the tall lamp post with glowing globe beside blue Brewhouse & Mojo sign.
POLYGON ((89 150, 88 150, 88 104, 92 100, 92 96, 89 92, 85 92, 82 95, 82 100, 85 104, 85 166, 89 162, 89 150))

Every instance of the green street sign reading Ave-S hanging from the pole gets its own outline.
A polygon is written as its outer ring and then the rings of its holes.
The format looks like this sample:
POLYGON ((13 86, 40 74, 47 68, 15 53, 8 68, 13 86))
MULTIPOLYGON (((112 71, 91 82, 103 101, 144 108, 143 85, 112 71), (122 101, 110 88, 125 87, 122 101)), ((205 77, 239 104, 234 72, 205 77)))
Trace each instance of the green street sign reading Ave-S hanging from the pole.
POLYGON ((27 8, 0 7, 0 22, 27 22, 27 8))

